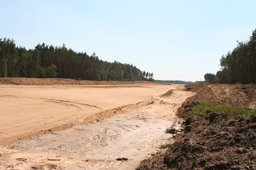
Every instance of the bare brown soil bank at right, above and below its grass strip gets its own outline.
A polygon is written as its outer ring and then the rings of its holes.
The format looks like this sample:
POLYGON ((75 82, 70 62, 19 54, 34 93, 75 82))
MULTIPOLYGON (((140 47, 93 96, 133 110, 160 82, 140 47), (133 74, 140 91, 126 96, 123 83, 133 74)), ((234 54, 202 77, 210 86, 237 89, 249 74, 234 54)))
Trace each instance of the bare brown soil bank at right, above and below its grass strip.
MULTIPOLYGON (((178 111, 202 101, 222 101, 226 105, 248 108, 255 104, 256 85, 220 85, 204 83, 186 85, 196 92, 187 99, 178 111)), ((208 111, 205 117, 195 116, 191 123, 184 121, 184 131, 175 136, 168 150, 156 157, 143 160, 138 170, 255 170, 256 169, 256 115, 245 117, 234 113, 230 118, 225 113, 208 111), (216 121, 217 120, 217 121, 216 121)))

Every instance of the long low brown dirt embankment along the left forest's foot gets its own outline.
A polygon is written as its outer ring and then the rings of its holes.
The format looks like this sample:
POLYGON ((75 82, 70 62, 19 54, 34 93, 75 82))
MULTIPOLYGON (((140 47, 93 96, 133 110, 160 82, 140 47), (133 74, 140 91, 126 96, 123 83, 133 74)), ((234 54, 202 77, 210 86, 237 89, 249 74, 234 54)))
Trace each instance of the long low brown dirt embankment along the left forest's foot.
POLYGON ((125 85, 152 83, 149 81, 87 81, 74 79, 38 79, 23 77, 0 77, 0 85, 125 85))

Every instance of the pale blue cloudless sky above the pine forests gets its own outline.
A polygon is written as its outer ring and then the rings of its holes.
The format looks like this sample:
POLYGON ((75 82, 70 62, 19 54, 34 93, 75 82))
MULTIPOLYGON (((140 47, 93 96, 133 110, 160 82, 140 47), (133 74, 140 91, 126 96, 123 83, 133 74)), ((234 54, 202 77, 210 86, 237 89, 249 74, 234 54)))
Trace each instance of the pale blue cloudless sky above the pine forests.
POLYGON ((204 80, 256 29, 255 0, 0 0, 0 38, 93 52, 156 80, 204 80))

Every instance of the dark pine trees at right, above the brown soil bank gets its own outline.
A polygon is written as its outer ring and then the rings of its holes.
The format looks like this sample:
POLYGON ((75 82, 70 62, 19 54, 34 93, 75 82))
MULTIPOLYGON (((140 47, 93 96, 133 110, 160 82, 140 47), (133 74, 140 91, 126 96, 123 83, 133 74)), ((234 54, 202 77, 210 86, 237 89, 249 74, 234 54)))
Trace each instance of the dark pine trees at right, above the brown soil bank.
MULTIPOLYGON (((238 41, 237 41, 238 42, 238 41)), ((238 42, 238 45, 220 58, 220 71, 216 75, 206 73, 206 81, 219 83, 242 84, 256 83, 256 29, 252 32, 250 40, 238 42)))

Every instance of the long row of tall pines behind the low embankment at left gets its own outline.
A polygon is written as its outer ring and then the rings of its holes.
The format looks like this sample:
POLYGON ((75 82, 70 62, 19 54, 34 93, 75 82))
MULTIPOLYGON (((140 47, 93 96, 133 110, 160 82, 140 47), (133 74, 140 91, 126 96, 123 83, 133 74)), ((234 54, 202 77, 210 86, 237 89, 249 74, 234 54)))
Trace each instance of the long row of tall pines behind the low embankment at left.
POLYGON ((97 81, 154 81, 153 73, 132 64, 102 61, 96 53, 76 52, 66 45, 38 43, 34 49, 0 39, 0 77, 69 78, 97 81))

